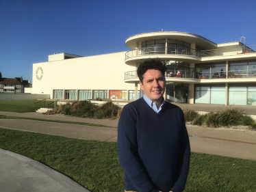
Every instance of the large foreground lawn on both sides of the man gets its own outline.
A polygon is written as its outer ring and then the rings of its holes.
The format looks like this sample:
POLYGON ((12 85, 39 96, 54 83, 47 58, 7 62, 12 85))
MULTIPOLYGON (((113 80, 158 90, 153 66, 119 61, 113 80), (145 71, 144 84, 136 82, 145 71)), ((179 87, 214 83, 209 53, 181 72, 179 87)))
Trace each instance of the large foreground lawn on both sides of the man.
MULTIPOLYGON (((0 128, 0 148, 40 161, 93 192, 120 192, 116 143, 69 139, 0 128)), ((256 161, 192 153, 185 191, 256 191, 256 161)))

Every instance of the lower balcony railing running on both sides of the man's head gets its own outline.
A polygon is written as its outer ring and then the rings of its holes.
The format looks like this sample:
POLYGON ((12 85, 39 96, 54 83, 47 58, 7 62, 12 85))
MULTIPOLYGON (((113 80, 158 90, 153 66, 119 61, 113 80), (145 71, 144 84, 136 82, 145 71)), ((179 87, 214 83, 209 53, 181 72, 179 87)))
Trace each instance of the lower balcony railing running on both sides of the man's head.
MULTIPOLYGON (((191 72, 186 70, 168 70, 165 77, 189 79, 226 79, 226 78, 256 78, 256 70, 230 70, 212 72, 191 72)), ((137 71, 125 72, 125 79, 138 78, 137 71)), ((168 79, 170 80, 170 79, 168 79)))

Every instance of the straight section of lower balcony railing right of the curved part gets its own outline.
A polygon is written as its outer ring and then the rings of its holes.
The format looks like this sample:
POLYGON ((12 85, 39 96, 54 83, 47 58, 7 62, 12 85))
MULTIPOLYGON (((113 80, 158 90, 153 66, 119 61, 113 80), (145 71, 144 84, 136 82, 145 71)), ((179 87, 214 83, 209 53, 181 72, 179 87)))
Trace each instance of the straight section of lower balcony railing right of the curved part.
POLYGON ((255 78, 256 70, 196 72, 196 79, 255 78))

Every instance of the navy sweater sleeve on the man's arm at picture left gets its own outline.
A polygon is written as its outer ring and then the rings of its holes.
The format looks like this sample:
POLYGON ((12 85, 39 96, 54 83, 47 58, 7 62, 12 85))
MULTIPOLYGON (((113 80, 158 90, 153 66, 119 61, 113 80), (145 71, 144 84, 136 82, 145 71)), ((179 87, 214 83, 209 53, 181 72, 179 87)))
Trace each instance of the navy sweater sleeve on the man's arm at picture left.
POLYGON ((138 154, 136 115, 124 107, 118 122, 118 156, 120 165, 139 192, 157 192, 138 154))

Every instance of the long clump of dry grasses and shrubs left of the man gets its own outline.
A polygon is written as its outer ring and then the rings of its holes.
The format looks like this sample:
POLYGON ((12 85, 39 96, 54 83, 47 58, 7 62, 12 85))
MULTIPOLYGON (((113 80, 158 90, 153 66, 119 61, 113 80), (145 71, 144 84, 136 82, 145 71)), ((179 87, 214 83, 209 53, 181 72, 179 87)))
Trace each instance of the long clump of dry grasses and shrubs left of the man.
POLYGON ((90 100, 75 101, 72 104, 57 105, 53 111, 47 111, 47 115, 64 114, 80 118, 116 119, 120 117, 122 108, 114 105, 112 101, 103 105, 95 105, 90 100))

